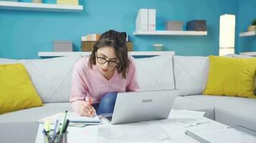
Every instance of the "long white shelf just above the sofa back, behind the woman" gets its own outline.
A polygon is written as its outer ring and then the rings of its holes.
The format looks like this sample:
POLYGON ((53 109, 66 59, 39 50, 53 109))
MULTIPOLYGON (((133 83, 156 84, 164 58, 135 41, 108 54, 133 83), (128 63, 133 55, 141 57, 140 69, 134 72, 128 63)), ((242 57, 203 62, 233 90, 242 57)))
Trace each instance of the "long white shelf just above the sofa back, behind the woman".
MULTIPOLYGON (((175 54, 175 51, 129 51, 129 54, 132 56, 158 56, 161 54, 170 53, 175 54)), ((40 57, 50 57, 50 56, 68 56, 72 54, 81 54, 82 56, 88 56, 91 54, 91 51, 70 51, 70 52, 57 52, 57 51, 40 51, 38 56, 40 57)))

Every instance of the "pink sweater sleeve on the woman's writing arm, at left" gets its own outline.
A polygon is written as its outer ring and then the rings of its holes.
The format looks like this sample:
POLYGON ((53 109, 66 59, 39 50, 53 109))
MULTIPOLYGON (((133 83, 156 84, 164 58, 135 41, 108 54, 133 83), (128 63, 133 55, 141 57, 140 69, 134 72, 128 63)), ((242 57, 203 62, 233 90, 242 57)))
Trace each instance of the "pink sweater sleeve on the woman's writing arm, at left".
POLYGON ((73 68, 70 93, 70 104, 74 112, 77 112, 79 102, 85 101, 88 93, 84 78, 82 62, 78 61, 73 68))

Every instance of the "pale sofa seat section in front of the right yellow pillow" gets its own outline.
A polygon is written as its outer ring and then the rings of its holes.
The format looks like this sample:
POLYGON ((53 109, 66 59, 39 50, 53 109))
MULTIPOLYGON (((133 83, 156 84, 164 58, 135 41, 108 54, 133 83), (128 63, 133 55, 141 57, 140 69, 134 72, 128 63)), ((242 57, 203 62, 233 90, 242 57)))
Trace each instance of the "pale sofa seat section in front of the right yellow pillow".
POLYGON ((204 95, 186 98, 213 106, 217 122, 231 127, 240 125, 256 131, 256 99, 204 95))

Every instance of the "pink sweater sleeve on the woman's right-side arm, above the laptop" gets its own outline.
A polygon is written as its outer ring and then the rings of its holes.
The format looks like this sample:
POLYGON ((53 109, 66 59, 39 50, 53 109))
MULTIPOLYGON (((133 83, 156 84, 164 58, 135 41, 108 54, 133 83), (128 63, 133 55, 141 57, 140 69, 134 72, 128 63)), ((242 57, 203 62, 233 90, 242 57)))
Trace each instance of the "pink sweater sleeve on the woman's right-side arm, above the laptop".
POLYGON ((127 92, 139 92, 140 87, 137 82, 137 70, 136 64, 132 56, 129 57, 130 65, 129 65, 129 84, 127 84, 127 92))

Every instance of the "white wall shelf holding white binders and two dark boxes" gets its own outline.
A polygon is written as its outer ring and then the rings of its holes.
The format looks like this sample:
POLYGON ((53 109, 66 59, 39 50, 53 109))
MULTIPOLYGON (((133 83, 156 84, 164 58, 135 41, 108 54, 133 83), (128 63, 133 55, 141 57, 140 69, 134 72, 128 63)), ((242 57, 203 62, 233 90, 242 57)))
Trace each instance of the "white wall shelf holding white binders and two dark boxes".
POLYGON ((134 31, 133 35, 203 36, 207 35, 207 31, 134 31))

